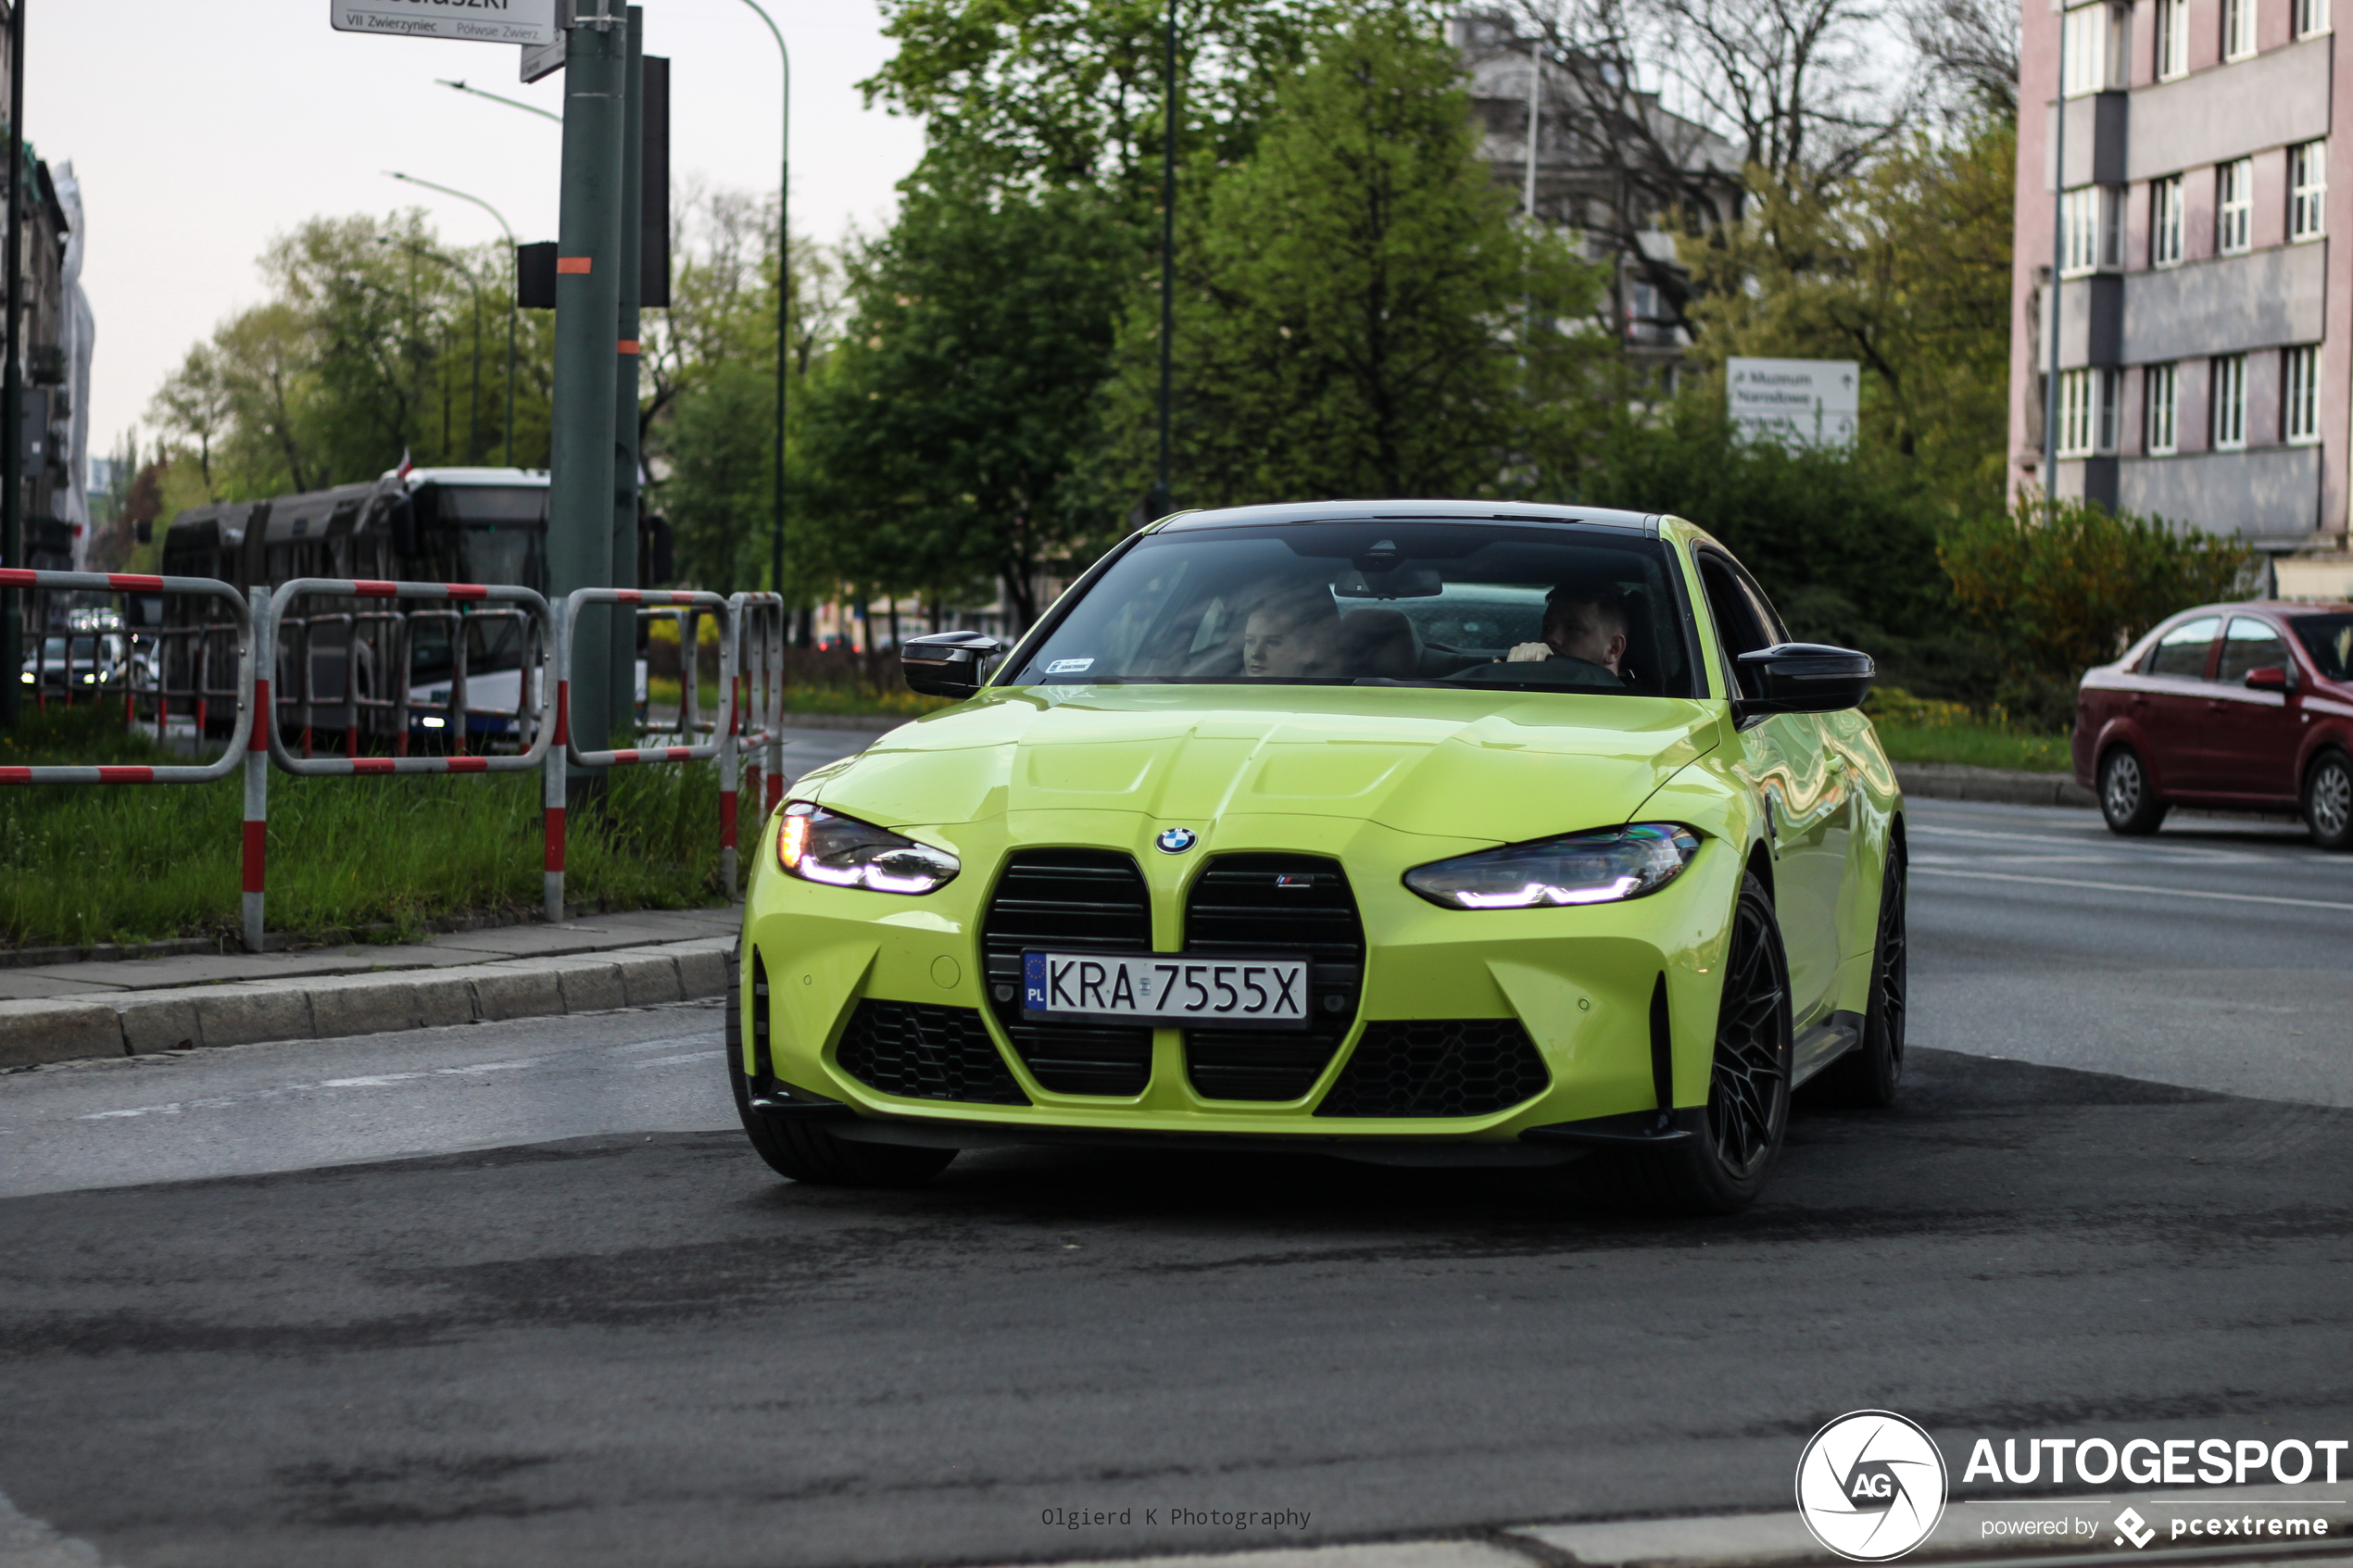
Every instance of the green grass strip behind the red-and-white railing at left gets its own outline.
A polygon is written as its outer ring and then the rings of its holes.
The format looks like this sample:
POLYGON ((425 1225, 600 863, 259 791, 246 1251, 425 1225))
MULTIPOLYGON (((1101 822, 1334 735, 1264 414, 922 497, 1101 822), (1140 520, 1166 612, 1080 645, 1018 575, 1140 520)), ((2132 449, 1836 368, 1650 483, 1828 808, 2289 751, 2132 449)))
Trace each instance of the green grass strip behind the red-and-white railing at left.
MULTIPOLYGON (((89 708, 26 712, 0 764, 181 762, 89 708)), ((294 778, 271 773, 268 929, 322 936, 541 903, 539 773, 294 778)), ((231 936, 245 780, 0 788, 0 940, 144 943, 231 936)), ((574 804, 565 893, 682 910, 720 900, 711 764, 614 769, 574 804)))

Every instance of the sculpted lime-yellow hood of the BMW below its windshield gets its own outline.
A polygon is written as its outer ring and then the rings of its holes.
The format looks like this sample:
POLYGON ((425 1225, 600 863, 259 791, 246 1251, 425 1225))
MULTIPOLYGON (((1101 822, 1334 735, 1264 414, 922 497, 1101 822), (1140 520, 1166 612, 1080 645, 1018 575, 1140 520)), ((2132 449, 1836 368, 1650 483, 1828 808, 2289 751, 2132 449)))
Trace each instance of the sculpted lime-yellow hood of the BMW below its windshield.
POLYGON ((882 827, 1005 811, 1337 816, 1499 844, 1631 820, 1720 703, 1419 686, 1042 686, 889 731, 793 795, 882 827))

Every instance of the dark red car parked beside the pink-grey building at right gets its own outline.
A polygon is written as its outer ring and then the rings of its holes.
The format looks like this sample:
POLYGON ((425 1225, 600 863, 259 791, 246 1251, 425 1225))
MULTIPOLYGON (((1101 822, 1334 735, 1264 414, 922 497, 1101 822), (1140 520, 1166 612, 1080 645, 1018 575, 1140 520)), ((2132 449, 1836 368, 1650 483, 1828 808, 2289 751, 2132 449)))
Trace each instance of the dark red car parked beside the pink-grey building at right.
POLYGON ((2075 783, 2115 832, 2172 806, 2299 811, 2353 849, 2353 604, 2202 604, 2075 691, 2075 783))

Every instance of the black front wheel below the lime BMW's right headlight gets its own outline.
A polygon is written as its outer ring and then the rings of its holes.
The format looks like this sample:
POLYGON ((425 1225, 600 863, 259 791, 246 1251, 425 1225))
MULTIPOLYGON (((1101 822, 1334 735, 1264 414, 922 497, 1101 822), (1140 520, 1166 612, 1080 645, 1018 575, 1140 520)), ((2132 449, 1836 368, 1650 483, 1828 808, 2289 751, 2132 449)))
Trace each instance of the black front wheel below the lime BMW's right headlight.
POLYGON ((1602 1175, 1617 1197, 1687 1215, 1739 1213, 1765 1190, 1781 1138, 1788 1133, 1793 1032, 1788 1016, 1788 957, 1772 896, 1755 875, 1741 875, 1725 954, 1725 999, 1715 1016, 1715 1056, 1708 1105, 1680 1112, 1689 1138, 1626 1161, 1602 1175), (1614 1180, 1609 1180, 1614 1178, 1614 1180))

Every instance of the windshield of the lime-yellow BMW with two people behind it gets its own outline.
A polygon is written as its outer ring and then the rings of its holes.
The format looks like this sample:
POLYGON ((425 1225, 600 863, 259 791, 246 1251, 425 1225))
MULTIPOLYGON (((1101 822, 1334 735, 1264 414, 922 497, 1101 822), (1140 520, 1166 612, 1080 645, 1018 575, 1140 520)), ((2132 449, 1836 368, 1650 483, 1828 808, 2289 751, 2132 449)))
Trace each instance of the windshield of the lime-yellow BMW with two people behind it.
POLYGON ((1174 527, 1005 684, 1445 684, 1692 696, 1657 538, 1584 527, 1174 527))

